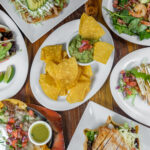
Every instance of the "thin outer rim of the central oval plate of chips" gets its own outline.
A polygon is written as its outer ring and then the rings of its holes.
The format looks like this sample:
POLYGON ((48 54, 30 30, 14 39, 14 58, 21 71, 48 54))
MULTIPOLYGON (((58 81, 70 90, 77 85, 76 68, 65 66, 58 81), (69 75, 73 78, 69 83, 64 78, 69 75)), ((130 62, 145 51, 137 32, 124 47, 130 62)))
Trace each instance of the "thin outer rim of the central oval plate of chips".
MULTIPOLYGON (((63 28, 64 26, 66 26, 66 25, 68 25, 68 24, 70 24, 70 23, 76 23, 76 22, 79 22, 80 21, 80 19, 76 19, 76 20, 72 20, 72 21, 70 21, 70 22, 67 22, 67 23, 65 23, 65 24, 63 24, 62 26, 60 26, 59 28, 57 28, 55 31, 57 32, 57 30, 59 30, 60 28, 63 28)), ((100 23, 100 22, 99 22, 100 23)), ((100 23, 101 24, 101 23, 100 23)), ((106 30, 107 30, 107 32, 109 33, 109 37, 111 38, 111 41, 112 41, 112 43, 113 43, 113 45, 114 45, 114 41, 113 41, 113 38, 112 38, 112 36, 111 36, 111 34, 110 34, 110 32, 108 31, 108 29, 103 25, 103 24, 101 24, 102 25, 102 27, 104 27, 106 30)), ((55 32, 54 31, 54 32, 55 32)), ((53 32, 53 33, 54 33, 53 32)), ((52 34, 53 34, 52 33, 52 34)), ((35 60, 37 59, 36 57, 37 57, 37 55, 39 54, 39 52, 41 51, 41 48, 43 47, 43 45, 45 44, 45 42, 46 41, 48 41, 48 39, 50 38, 50 36, 52 35, 52 34, 50 34, 46 39, 45 39, 45 41, 42 43, 42 45, 40 46, 40 48, 38 49, 38 51, 37 51, 37 53, 36 53, 36 56, 34 57, 34 60, 33 60, 33 62, 32 62, 32 66, 31 66, 31 71, 30 71, 30 86, 31 86, 31 90, 32 90, 32 93, 33 93, 33 95, 34 95, 34 97, 36 98, 36 100, 40 103, 40 104, 42 104, 41 102, 40 102, 40 100, 38 100, 39 98, 38 98, 38 96, 35 94, 35 92, 34 92, 34 86, 32 85, 33 83, 32 83, 32 81, 31 81, 31 77, 32 77, 32 71, 33 71, 33 67, 34 67, 34 62, 35 62, 35 60)), ((112 63, 111 63, 111 66, 110 66, 110 70, 107 72, 107 77, 106 77, 106 79, 103 81, 103 84, 102 84, 102 86, 104 85, 104 83, 106 82, 106 80, 108 79, 108 76, 110 75, 110 72, 111 72, 111 69, 112 69, 112 66, 113 66, 113 62, 114 62, 114 57, 115 57, 115 46, 114 46, 114 51, 113 51, 113 53, 112 53, 112 55, 113 55, 113 58, 112 58, 112 63)), ((100 88, 98 88, 96 91, 95 91, 95 93, 96 92, 98 92, 98 90, 100 90, 101 88, 102 88, 102 86, 100 87, 100 88)), ((95 95, 95 93, 94 94, 92 94, 92 96, 94 96, 95 95)), ((90 97, 91 98, 91 97, 90 97)), ((89 99, 90 99, 89 98, 89 99)), ((48 108, 48 109, 52 109, 52 110, 55 110, 55 111, 66 111, 66 110, 71 110, 71 109, 74 109, 74 108, 76 108, 76 107, 78 107, 78 106, 80 106, 80 105, 82 105, 83 103, 85 103, 86 101, 88 101, 89 99, 87 99, 87 100, 84 100, 84 101, 82 101, 82 102, 79 102, 79 103, 74 103, 74 105, 75 106, 71 106, 71 104, 70 104, 70 107, 69 108, 58 108, 58 107, 51 107, 51 108, 49 108, 49 107, 47 107, 46 105, 44 105, 44 104, 42 104, 44 107, 46 107, 46 108, 48 108)))

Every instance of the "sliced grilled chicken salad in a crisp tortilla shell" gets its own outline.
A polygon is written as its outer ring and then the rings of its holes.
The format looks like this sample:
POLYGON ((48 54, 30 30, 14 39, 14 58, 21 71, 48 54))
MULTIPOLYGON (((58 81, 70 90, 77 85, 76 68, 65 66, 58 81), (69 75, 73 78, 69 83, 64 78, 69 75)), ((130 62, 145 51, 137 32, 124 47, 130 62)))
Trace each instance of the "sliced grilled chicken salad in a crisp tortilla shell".
POLYGON ((118 125, 110 116, 105 125, 84 134, 84 150, 140 150, 138 126, 118 125))

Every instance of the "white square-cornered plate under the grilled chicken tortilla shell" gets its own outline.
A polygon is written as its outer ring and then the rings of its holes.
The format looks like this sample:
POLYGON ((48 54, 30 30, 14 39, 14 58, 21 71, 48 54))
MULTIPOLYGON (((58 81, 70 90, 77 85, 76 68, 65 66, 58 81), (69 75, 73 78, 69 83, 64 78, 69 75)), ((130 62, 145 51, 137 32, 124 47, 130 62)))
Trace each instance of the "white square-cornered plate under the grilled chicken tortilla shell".
MULTIPOLYGON (((99 126, 104 125, 109 115, 112 116, 113 120, 119 124, 123 124, 125 122, 130 124, 133 122, 94 102, 89 102, 77 126, 77 129, 75 130, 75 133, 70 141, 67 150, 83 150, 83 143, 85 141, 85 135, 83 134, 83 130, 86 128, 95 129, 99 126)), ((139 125, 139 138, 141 150, 148 150, 150 147, 150 129, 135 122, 133 122, 133 124, 139 125)))

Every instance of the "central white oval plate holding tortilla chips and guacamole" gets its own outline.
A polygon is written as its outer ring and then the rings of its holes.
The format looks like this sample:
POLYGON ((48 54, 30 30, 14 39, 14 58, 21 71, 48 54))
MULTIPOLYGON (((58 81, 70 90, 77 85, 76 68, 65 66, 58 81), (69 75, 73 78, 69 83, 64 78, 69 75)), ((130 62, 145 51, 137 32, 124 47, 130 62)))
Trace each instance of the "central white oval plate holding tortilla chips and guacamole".
MULTIPOLYGON (((58 28, 56 31, 54 31, 42 44, 40 49, 38 50, 33 64, 31 68, 31 73, 30 73, 30 84, 31 84, 31 89, 32 92, 35 96, 35 98, 41 103, 43 106, 57 110, 57 111, 64 111, 64 110, 69 110, 72 108, 75 108, 84 102, 86 102, 89 98, 91 98, 104 84, 106 81, 112 64, 114 60, 114 52, 113 51, 108 63, 106 65, 103 65, 101 63, 93 63, 92 64, 92 70, 94 73, 93 81, 92 81, 92 86, 91 86, 91 91, 87 95, 87 97, 84 99, 83 102, 80 103, 74 103, 74 104, 69 104, 66 101, 66 97, 61 96, 58 98, 58 101, 51 100, 48 98, 42 91, 40 84, 39 84, 39 77, 40 74, 43 73, 44 70, 44 62, 40 60, 40 54, 41 54, 41 48, 46 46, 46 45, 56 45, 56 44, 64 44, 64 49, 66 49, 66 42, 71 37, 71 35, 75 32, 78 31, 79 29, 79 23, 80 20, 75 20, 71 21, 69 23, 64 24, 60 28, 58 28)), ((106 41, 112 45, 114 45, 112 37, 109 33, 109 31, 103 26, 103 29, 105 30, 106 34, 102 37, 102 41, 106 41)))

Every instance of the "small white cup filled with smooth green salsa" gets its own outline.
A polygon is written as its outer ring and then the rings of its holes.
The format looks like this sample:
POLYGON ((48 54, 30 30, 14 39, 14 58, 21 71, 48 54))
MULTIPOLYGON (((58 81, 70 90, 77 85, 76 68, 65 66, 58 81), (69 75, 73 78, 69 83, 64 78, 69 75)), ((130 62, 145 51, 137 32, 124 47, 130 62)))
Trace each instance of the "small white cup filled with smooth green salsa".
POLYGON ((52 138, 52 128, 45 121, 36 121, 30 126, 28 136, 33 144, 45 145, 52 138))

